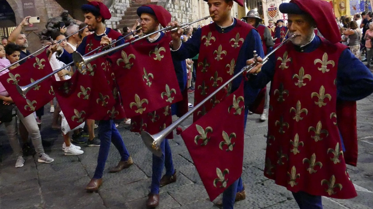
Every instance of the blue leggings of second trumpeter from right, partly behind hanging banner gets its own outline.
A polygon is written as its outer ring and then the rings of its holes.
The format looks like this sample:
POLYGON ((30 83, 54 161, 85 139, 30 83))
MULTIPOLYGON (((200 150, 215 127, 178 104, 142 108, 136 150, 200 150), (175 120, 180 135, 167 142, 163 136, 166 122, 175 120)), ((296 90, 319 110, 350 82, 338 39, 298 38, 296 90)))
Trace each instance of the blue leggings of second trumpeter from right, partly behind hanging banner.
MULTIPOLYGON (((249 109, 245 107, 245 119, 244 119, 244 132, 246 129, 247 114, 249 109)), ((242 178, 239 177, 231 186, 223 192, 223 209, 233 209, 233 205, 236 199, 236 193, 244 190, 244 184, 242 184, 242 178)))

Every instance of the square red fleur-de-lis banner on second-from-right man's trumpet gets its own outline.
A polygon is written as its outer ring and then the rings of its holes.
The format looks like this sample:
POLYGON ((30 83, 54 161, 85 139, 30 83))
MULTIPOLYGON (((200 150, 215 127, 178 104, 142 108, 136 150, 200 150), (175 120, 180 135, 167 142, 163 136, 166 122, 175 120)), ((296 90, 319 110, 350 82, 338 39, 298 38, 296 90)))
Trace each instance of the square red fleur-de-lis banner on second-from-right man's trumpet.
POLYGON ((127 118, 182 100, 169 43, 142 39, 109 57, 127 118))

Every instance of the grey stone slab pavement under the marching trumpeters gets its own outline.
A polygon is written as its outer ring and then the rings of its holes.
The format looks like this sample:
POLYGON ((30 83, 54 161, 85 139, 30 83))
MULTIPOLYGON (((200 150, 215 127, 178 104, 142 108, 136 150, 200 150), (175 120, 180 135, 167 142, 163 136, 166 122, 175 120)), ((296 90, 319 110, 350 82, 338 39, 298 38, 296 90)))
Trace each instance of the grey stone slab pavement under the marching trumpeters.
MULTIPOLYGON (((192 101, 192 94, 190 94, 192 101)), ((373 96, 358 101, 358 166, 348 166, 358 196, 350 200, 323 197, 325 209, 373 208, 373 96)), ((112 145, 104 172, 104 183, 98 193, 84 188, 93 176, 97 163, 97 147, 82 146, 84 154, 65 156, 61 150, 63 139, 59 131, 50 128, 51 113, 46 106, 41 135, 45 150, 54 158, 50 164, 38 163, 28 156, 25 165, 15 168, 15 158, 7 141, 4 125, 0 127, 0 209, 143 209, 151 182, 151 153, 140 136, 131 133, 121 123, 118 130, 134 160, 133 166, 119 173, 107 169, 120 157, 112 145)), ((224 122, 224 121, 222 121, 224 122)), ((189 118, 183 129, 191 125, 189 118)), ((248 116, 245 132, 244 170, 247 197, 235 204, 235 209, 292 209, 298 208, 291 193, 263 176, 267 123, 260 123, 258 115, 248 116)), ((159 209, 217 209, 208 199, 193 161, 179 135, 170 140, 178 180, 160 189, 159 209)), ((216 201, 216 200, 215 200, 216 201)))

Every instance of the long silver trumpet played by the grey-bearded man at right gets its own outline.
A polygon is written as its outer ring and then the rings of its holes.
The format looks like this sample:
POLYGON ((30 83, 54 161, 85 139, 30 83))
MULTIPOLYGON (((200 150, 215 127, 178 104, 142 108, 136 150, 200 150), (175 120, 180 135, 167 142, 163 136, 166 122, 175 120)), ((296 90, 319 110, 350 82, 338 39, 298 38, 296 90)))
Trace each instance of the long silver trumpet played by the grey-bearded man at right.
MULTIPOLYGON (((261 64, 266 63, 268 61, 270 55, 272 55, 273 53, 275 53, 275 51, 277 51, 281 46, 283 46, 286 43, 288 43, 295 36, 296 35, 292 35, 291 37, 289 37, 288 39, 286 39, 286 41, 282 42, 277 48, 273 49, 269 54, 267 54, 267 56, 265 56, 263 58, 263 61, 261 62, 261 64)), ((191 110, 189 110, 188 113, 186 113, 185 115, 181 116, 181 118, 179 118, 178 120, 176 120, 175 122, 173 122, 170 126, 168 126, 163 131, 159 132, 158 134, 154 134, 154 135, 150 135, 148 132, 142 131, 141 132, 141 138, 142 138, 142 141, 144 141, 145 146, 151 152, 153 152, 154 155, 156 155, 158 157, 161 157, 162 156, 162 151, 160 150, 159 146, 162 143, 162 141, 165 139, 165 137, 167 135, 169 135, 173 131, 173 129, 175 129, 182 122, 184 122, 184 120, 186 118, 188 118, 189 116, 191 116, 204 103, 206 103, 207 101, 210 101, 210 99, 216 93, 218 93, 220 90, 222 90, 226 85, 228 85, 230 82, 232 82, 235 78, 237 78, 239 76, 242 76, 242 74, 245 73, 245 72, 246 73, 250 72, 257 64, 259 64, 258 61, 257 61, 256 51, 254 51, 254 59, 255 59, 255 62, 253 64, 246 65, 245 67, 243 67, 241 69, 241 71, 239 71, 239 73, 235 74, 231 79, 229 79, 228 81, 226 81, 224 84, 220 85, 220 87, 218 89, 216 89, 208 97, 206 97, 204 100, 202 100, 200 103, 198 103, 198 105, 194 106, 191 110)))

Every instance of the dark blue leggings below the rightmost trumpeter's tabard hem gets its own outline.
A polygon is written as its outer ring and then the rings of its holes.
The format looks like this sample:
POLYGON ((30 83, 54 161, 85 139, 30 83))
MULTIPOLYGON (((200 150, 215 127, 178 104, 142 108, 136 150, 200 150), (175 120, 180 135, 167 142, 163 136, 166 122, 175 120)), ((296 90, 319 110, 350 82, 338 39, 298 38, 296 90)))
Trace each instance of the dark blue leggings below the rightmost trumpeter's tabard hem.
POLYGON ((314 196, 305 192, 292 192, 300 209, 323 209, 321 196, 314 196))

